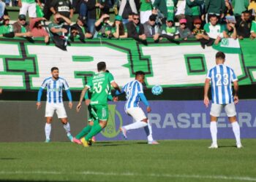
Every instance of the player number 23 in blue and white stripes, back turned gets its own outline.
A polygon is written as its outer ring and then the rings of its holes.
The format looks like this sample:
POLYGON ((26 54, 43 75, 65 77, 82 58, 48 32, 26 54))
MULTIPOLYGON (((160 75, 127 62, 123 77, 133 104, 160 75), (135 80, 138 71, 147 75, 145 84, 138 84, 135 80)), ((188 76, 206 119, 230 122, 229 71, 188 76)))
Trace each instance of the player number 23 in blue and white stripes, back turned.
POLYGON ((216 54, 216 66, 208 71, 206 76, 206 82, 204 87, 204 104, 206 107, 209 105, 208 90, 211 82, 211 138, 212 143, 209 149, 218 148, 217 144, 217 119, 222 112, 222 108, 225 109, 227 117, 232 124, 233 132, 236 137, 236 146, 241 148, 240 139, 240 127, 236 120, 236 107, 235 103, 238 103, 238 79, 233 69, 225 66, 225 54, 223 52, 217 52, 216 54), (232 82, 234 85, 234 96, 232 90, 232 82))

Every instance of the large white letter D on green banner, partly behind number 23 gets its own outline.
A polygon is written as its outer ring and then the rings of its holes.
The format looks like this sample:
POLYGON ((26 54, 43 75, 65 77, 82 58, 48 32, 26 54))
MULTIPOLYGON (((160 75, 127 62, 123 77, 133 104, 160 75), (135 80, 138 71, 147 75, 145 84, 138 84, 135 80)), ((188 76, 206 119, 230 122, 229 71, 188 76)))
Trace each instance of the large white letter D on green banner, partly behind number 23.
MULTIPOLYGON (((206 75, 188 75, 184 55, 203 54, 206 58, 207 69, 215 66, 215 54, 217 50, 206 47, 203 50, 200 45, 170 46, 170 47, 142 47, 143 55, 151 56, 154 77, 148 77, 150 85, 177 85, 177 84, 203 84, 206 75), (159 53, 161 50, 161 53, 159 53)), ((226 54, 227 66, 233 68, 236 76, 242 75, 238 54, 226 54)))

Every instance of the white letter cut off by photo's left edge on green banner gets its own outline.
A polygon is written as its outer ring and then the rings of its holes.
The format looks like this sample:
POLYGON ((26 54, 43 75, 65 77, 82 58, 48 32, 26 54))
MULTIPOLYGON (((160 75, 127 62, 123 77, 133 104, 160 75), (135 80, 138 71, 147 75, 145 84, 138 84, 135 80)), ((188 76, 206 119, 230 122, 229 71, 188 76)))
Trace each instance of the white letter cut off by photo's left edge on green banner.
MULTIPOLYGON (((0 44, 0 56, 18 56, 20 52, 17 44, 0 44)), ((0 57, 0 86, 1 87, 24 87, 23 76, 14 74, 2 74, 4 72, 4 60, 0 57), (4 82, 3 82, 4 81, 4 82)))

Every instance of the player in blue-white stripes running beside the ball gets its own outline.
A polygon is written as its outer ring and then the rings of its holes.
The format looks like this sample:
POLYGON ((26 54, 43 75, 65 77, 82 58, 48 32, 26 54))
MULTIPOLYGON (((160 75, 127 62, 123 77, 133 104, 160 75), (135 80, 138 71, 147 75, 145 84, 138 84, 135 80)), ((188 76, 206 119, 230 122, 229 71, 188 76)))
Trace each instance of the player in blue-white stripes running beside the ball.
POLYGON ((138 129, 144 127, 146 135, 148 136, 148 144, 158 144, 157 141, 154 141, 152 136, 152 127, 151 124, 144 114, 143 110, 139 107, 140 100, 147 107, 147 112, 151 112, 148 101, 143 93, 142 83, 145 79, 145 73, 143 71, 137 71, 135 73, 135 80, 124 85, 121 90, 121 93, 116 91, 116 95, 126 93, 127 103, 125 103, 125 111, 129 116, 132 116, 135 119, 135 122, 128 124, 120 128, 124 138, 127 139, 127 131, 138 129))

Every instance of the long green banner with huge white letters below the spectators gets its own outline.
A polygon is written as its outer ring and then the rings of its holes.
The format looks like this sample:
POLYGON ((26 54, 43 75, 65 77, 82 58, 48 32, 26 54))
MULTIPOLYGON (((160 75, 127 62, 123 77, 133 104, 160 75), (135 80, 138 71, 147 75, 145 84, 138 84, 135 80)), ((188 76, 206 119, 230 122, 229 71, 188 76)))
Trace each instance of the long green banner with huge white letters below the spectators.
POLYGON ((218 50, 226 52, 226 64, 234 69, 239 84, 256 80, 256 41, 223 39, 222 44, 203 49, 195 40, 174 44, 160 41, 140 44, 132 39, 91 39, 75 41, 67 51, 54 44, 36 40, 0 39, 0 87, 8 90, 37 90, 50 76, 50 68, 59 67, 72 90, 80 90, 105 61, 116 82, 123 86, 146 72, 146 85, 152 87, 197 87, 203 85, 209 68, 215 65, 218 50), (234 46, 233 46, 234 45, 234 46))

